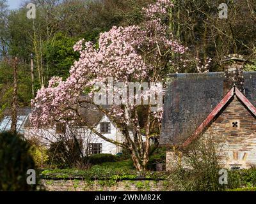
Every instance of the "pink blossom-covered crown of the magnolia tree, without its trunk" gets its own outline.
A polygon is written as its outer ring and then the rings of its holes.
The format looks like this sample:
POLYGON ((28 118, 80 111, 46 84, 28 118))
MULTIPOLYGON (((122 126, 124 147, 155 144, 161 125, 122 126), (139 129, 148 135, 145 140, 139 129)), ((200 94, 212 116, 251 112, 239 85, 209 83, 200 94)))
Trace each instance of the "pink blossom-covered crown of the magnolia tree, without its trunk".
MULTIPOLYGON (((74 50, 79 51, 80 58, 71 67, 70 77, 65 81, 53 77, 48 87, 39 90, 31 101, 32 124, 44 126, 56 120, 75 122, 79 119, 77 110, 84 90, 97 82, 107 83, 108 77, 113 77, 113 83, 124 82, 126 85, 128 82, 162 82, 161 73, 166 62, 169 63, 166 59, 173 53, 183 54, 186 51, 157 17, 157 13, 166 13, 170 6, 173 4, 168 0, 150 4, 143 10, 145 16, 150 17, 147 21, 128 27, 114 26, 110 31, 101 33, 98 48, 92 42, 78 41, 74 50)), ((110 88, 107 89, 109 91, 110 88)), ((152 89, 157 92, 156 87, 152 89)), ((93 97, 95 92, 91 89, 87 94, 93 97)), ((114 92, 121 91, 116 89, 114 92)), ((142 97, 148 97, 147 92, 144 95, 142 97)), ((113 105, 108 116, 129 126, 138 121, 131 116, 135 110, 136 105, 113 105)), ((152 117, 160 120, 161 113, 152 112, 152 117)))

